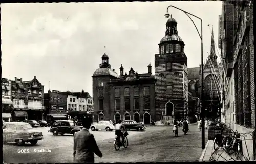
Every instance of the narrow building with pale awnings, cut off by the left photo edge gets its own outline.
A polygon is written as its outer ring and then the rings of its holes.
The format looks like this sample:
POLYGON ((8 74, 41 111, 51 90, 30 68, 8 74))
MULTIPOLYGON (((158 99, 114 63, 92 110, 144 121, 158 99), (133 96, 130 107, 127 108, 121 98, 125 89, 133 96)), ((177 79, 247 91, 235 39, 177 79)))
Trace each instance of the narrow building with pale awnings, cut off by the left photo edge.
POLYGON ((2 118, 5 121, 11 121, 12 100, 11 100, 11 82, 2 78, 2 118))

